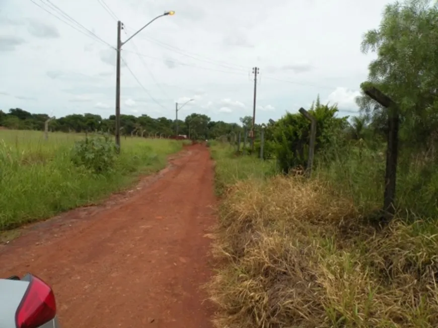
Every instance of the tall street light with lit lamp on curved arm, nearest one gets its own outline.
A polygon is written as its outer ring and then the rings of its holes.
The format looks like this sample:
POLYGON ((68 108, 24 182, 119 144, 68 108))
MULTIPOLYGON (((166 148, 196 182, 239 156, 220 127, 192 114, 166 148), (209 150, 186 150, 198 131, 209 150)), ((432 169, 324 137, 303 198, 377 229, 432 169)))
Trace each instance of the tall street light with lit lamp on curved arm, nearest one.
POLYGON ((132 39, 134 36, 136 36, 138 33, 140 33, 143 29, 148 27, 152 22, 159 19, 163 16, 173 16, 175 15, 174 11, 164 12, 164 14, 157 16, 152 21, 150 21, 148 24, 144 25, 141 29, 139 29, 137 32, 132 34, 125 42, 122 42, 121 40, 121 31, 122 31, 122 22, 117 22, 117 68, 116 68, 116 145, 117 148, 120 150, 120 51, 122 49, 122 45, 124 45, 126 42, 128 42, 130 39, 132 39))

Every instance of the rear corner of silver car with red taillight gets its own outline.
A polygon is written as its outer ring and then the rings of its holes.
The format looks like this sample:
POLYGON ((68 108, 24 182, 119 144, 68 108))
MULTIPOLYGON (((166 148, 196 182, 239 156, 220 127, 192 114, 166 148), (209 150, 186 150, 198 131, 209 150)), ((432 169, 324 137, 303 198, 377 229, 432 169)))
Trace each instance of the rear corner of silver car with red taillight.
POLYGON ((0 327, 60 328, 52 288, 30 273, 0 279, 0 327))

